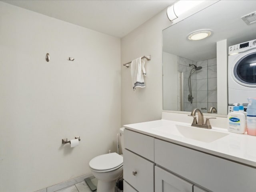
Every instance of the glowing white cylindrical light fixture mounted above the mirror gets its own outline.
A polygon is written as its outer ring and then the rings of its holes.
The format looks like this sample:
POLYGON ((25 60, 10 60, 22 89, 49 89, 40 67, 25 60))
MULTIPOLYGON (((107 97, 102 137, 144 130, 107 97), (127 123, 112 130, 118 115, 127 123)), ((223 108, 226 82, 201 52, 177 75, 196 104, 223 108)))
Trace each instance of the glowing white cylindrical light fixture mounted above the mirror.
POLYGON ((178 18, 184 12, 201 4, 205 0, 180 0, 167 8, 167 17, 170 21, 178 18))

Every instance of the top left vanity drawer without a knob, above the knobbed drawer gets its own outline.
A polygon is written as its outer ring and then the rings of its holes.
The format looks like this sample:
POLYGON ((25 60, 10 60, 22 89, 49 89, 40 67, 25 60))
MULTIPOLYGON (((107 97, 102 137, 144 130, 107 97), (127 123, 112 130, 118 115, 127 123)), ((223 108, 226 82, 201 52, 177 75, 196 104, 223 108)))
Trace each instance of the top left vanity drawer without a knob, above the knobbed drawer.
POLYGON ((154 138, 124 129, 124 147, 154 161, 154 138))

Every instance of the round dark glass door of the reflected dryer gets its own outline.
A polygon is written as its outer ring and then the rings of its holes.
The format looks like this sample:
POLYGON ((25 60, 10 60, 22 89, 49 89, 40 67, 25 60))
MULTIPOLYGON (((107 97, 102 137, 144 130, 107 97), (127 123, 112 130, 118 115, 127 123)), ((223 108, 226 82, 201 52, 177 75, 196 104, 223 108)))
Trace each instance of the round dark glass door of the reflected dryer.
POLYGON ((235 64, 234 76, 238 82, 248 86, 256 85, 256 53, 248 54, 235 64))

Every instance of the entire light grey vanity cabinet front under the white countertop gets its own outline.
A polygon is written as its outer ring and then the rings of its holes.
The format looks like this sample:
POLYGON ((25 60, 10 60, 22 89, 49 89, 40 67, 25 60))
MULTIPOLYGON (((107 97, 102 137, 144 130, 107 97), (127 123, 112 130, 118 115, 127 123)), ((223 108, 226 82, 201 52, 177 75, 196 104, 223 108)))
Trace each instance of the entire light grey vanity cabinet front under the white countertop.
POLYGON ((256 191, 254 166, 124 131, 124 192, 256 191))

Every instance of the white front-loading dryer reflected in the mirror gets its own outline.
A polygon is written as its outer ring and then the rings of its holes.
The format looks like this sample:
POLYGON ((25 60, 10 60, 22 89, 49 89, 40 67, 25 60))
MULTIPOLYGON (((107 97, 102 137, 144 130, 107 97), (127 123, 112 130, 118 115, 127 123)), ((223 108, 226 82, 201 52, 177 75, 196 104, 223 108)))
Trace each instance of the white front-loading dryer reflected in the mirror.
POLYGON ((228 112, 235 103, 256 97, 256 40, 228 48, 228 112))

